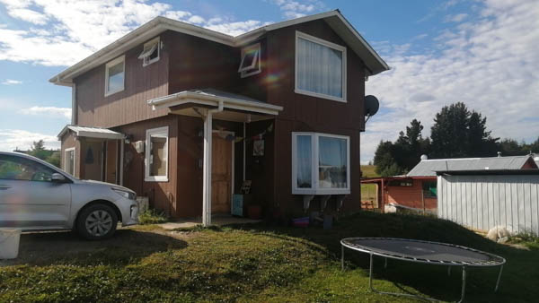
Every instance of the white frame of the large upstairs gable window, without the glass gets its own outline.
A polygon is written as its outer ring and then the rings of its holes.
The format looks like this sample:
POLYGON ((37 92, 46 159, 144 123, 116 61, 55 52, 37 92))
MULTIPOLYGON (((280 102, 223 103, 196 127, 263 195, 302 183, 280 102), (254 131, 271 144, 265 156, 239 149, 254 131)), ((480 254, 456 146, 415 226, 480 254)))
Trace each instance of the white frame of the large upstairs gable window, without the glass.
POLYGON ((340 102, 347 102, 347 98, 346 98, 346 82, 347 82, 347 79, 346 79, 346 74, 347 74, 347 64, 346 64, 346 60, 347 59, 347 56, 346 56, 346 47, 343 47, 339 44, 335 44, 335 43, 331 43, 330 41, 326 41, 324 39, 320 39, 320 38, 316 38, 314 36, 311 36, 311 35, 307 35, 305 34, 305 32, 301 32, 301 31, 298 31, 296 30, 296 62, 295 62, 295 66, 294 66, 294 70, 295 70, 295 84, 294 84, 294 92, 296 93, 299 93, 299 94, 302 94, 302 95, 307 95, 307 96, 311 96, 311 97, 317 97, 317 98, 322 98, 322 99, 328 99, 328 100, 334 100, 334 101, 340 101, 340 102), (297 51, 298 49, 298 41, 299 39, 305 39, 305 40, 309 40, 311 42, 314 42, 314 43, 317 43, 317 44, 320 44, 324 47, 327 47, 327 48, 333 48, 335 50, 338 50, 342 53, 342 98, 340 97, 335 97, 335 96, 331 96, 331 95, 326 95, 326 94, 323 94, 323 93, 319 93, 319 92, 313 92, 313 91, 305 91, 305 90, 300 90, 299 88, 297 88, 297 59, 298 59, 298 56, 299 56, 299 53, 297 51))

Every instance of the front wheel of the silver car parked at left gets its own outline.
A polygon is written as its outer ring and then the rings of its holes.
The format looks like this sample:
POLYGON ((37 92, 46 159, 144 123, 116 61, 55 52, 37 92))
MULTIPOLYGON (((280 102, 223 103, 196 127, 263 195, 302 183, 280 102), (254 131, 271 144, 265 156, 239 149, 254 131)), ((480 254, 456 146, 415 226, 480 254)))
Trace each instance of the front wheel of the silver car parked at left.
POLYGON ((76 221, 81 237, 89 240, 110 238, 116 231, 118 216, 106 204, 97 203, 83 209, 76 221))

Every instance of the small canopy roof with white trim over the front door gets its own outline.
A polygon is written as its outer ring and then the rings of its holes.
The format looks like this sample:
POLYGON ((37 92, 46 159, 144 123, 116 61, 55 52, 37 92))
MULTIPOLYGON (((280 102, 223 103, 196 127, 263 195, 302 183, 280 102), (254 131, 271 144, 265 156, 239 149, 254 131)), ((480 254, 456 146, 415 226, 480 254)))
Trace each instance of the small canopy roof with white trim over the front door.
POLYGON ((260 100, 215 89, 190 90, 173 93, 147 101, 154 109, 169 108, 172 114, 200 117, 199 109, 220 108, 216 119, 235 122, 266 120, 277 116, 283 107, 260 100))

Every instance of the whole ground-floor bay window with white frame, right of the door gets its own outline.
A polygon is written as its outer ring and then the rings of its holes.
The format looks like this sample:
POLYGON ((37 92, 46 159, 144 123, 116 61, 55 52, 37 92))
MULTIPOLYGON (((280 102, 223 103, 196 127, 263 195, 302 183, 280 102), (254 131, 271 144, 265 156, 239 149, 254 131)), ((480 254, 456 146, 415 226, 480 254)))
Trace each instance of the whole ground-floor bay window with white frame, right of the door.
POLYGON ((292 133, 292 194, 350 193, 349 137, 292 133))

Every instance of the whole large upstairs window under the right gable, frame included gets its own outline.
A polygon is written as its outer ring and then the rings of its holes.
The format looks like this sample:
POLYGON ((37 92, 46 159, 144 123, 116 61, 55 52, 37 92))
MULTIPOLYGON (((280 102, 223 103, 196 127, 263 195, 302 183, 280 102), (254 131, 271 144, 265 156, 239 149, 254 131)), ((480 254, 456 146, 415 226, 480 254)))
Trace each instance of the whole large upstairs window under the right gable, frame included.
POLYGON ((346 102, 346 48, 296 31, 295 91, 346 102))

